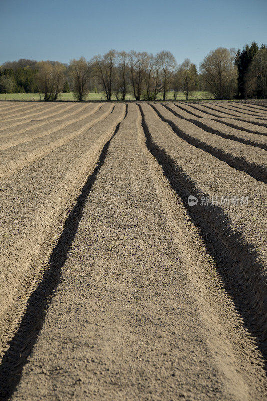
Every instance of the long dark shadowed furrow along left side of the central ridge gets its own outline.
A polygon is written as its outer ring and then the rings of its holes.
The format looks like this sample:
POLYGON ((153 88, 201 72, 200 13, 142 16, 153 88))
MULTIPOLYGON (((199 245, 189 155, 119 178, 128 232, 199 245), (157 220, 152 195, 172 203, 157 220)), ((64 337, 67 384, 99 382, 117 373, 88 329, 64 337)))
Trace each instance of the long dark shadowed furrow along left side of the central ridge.
MULTIPOLYGON (((125 116, 123 119, 125 119, 127 112, 128 105, 126 105, 125 116)), ((103 147, 93 173, 87 178, 73 209, 68 215, 64 224, 63 232, 50 255, 49 267, 44 272, 42 281, 31 294, 20 326, 15 336, 8 344, 9 349, 4 354, 0 364, 1 401, 7 401, 9 399, 16 385, 20 381, 23 366, 26 363, 33 345, 37 341, 39 332, 45 321, 49 302, 60 282, 61 268, 66 261, 69 250, 71 249, 72 242, 82 217, 82 211, 86 199, 97 178, 100 168, 104 164, 110 142, 118 132, 120 124, 121 122, 116 126, 112 137, 103 147)))

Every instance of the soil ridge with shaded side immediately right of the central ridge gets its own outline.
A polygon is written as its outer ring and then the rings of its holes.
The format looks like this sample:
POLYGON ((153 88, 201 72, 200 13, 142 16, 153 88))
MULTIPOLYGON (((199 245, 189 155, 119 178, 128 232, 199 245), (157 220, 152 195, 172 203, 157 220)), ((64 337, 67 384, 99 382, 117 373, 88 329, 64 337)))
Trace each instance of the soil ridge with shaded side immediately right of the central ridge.
POLYGON ((235 291, 238 284, 243 294, 241 308, 249 316, 250 330, 266 351, 265 185, 173 136, 165 123, 156 120, 149 105, 139 107, 149 150, 162 165, 173 188, 183 197, 184 204, 188 205, 189 195, 198 199, 196 205, 188 207, 188 212, 196 224, 200 218, 213 233, 210 244, 215 242, 221 247, 218 258, 222 261, 225 252, 231 256, 233 265, 228 267, 227 276, 232 279, 235 291), (244 190, 252 203, 247 209, 218 202, 205 206, 200 202, 201 197, 220 199, 226 194, 231 199, 244 190))

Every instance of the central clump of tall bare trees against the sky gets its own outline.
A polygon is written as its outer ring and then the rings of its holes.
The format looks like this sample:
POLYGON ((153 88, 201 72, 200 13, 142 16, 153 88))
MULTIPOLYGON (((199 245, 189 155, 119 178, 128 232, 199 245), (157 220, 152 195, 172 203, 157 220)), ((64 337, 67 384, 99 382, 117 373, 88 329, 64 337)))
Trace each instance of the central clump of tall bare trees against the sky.
POLYGON ((88 68, 107 100, 111 99, 112 93, 118 100, 124 100, 128 92, 133 93, 136 100, 156 100, 160 93, 165 100, 170 89, 174 90, 175 98, 180 90, 188 98, 189 92, 197 88, 196 66, 189 59, 177 66, 168 51, 153 56, 147 52, 110 50, 104 56, 95 56, 88 68))

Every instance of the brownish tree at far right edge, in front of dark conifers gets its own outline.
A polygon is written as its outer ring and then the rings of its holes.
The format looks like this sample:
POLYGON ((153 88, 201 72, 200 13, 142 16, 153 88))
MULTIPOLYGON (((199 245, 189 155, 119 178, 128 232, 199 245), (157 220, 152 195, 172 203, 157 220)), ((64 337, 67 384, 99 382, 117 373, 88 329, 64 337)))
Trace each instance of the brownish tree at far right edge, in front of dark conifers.
POLYGON ((245 96, 267 98, 267 49, 257 51, 245 76, 245 96))

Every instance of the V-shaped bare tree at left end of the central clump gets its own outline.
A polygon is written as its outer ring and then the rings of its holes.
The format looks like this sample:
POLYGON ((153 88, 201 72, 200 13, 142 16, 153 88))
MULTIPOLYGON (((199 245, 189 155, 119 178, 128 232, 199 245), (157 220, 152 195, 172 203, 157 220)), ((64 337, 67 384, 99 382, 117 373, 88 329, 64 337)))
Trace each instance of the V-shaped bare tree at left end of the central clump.
POLYGON ((110 50, 104 56, 95 56, 92 63, 94 74, 101 83, 107 100, 111 100, 115 78, 116 51, 110 50))

